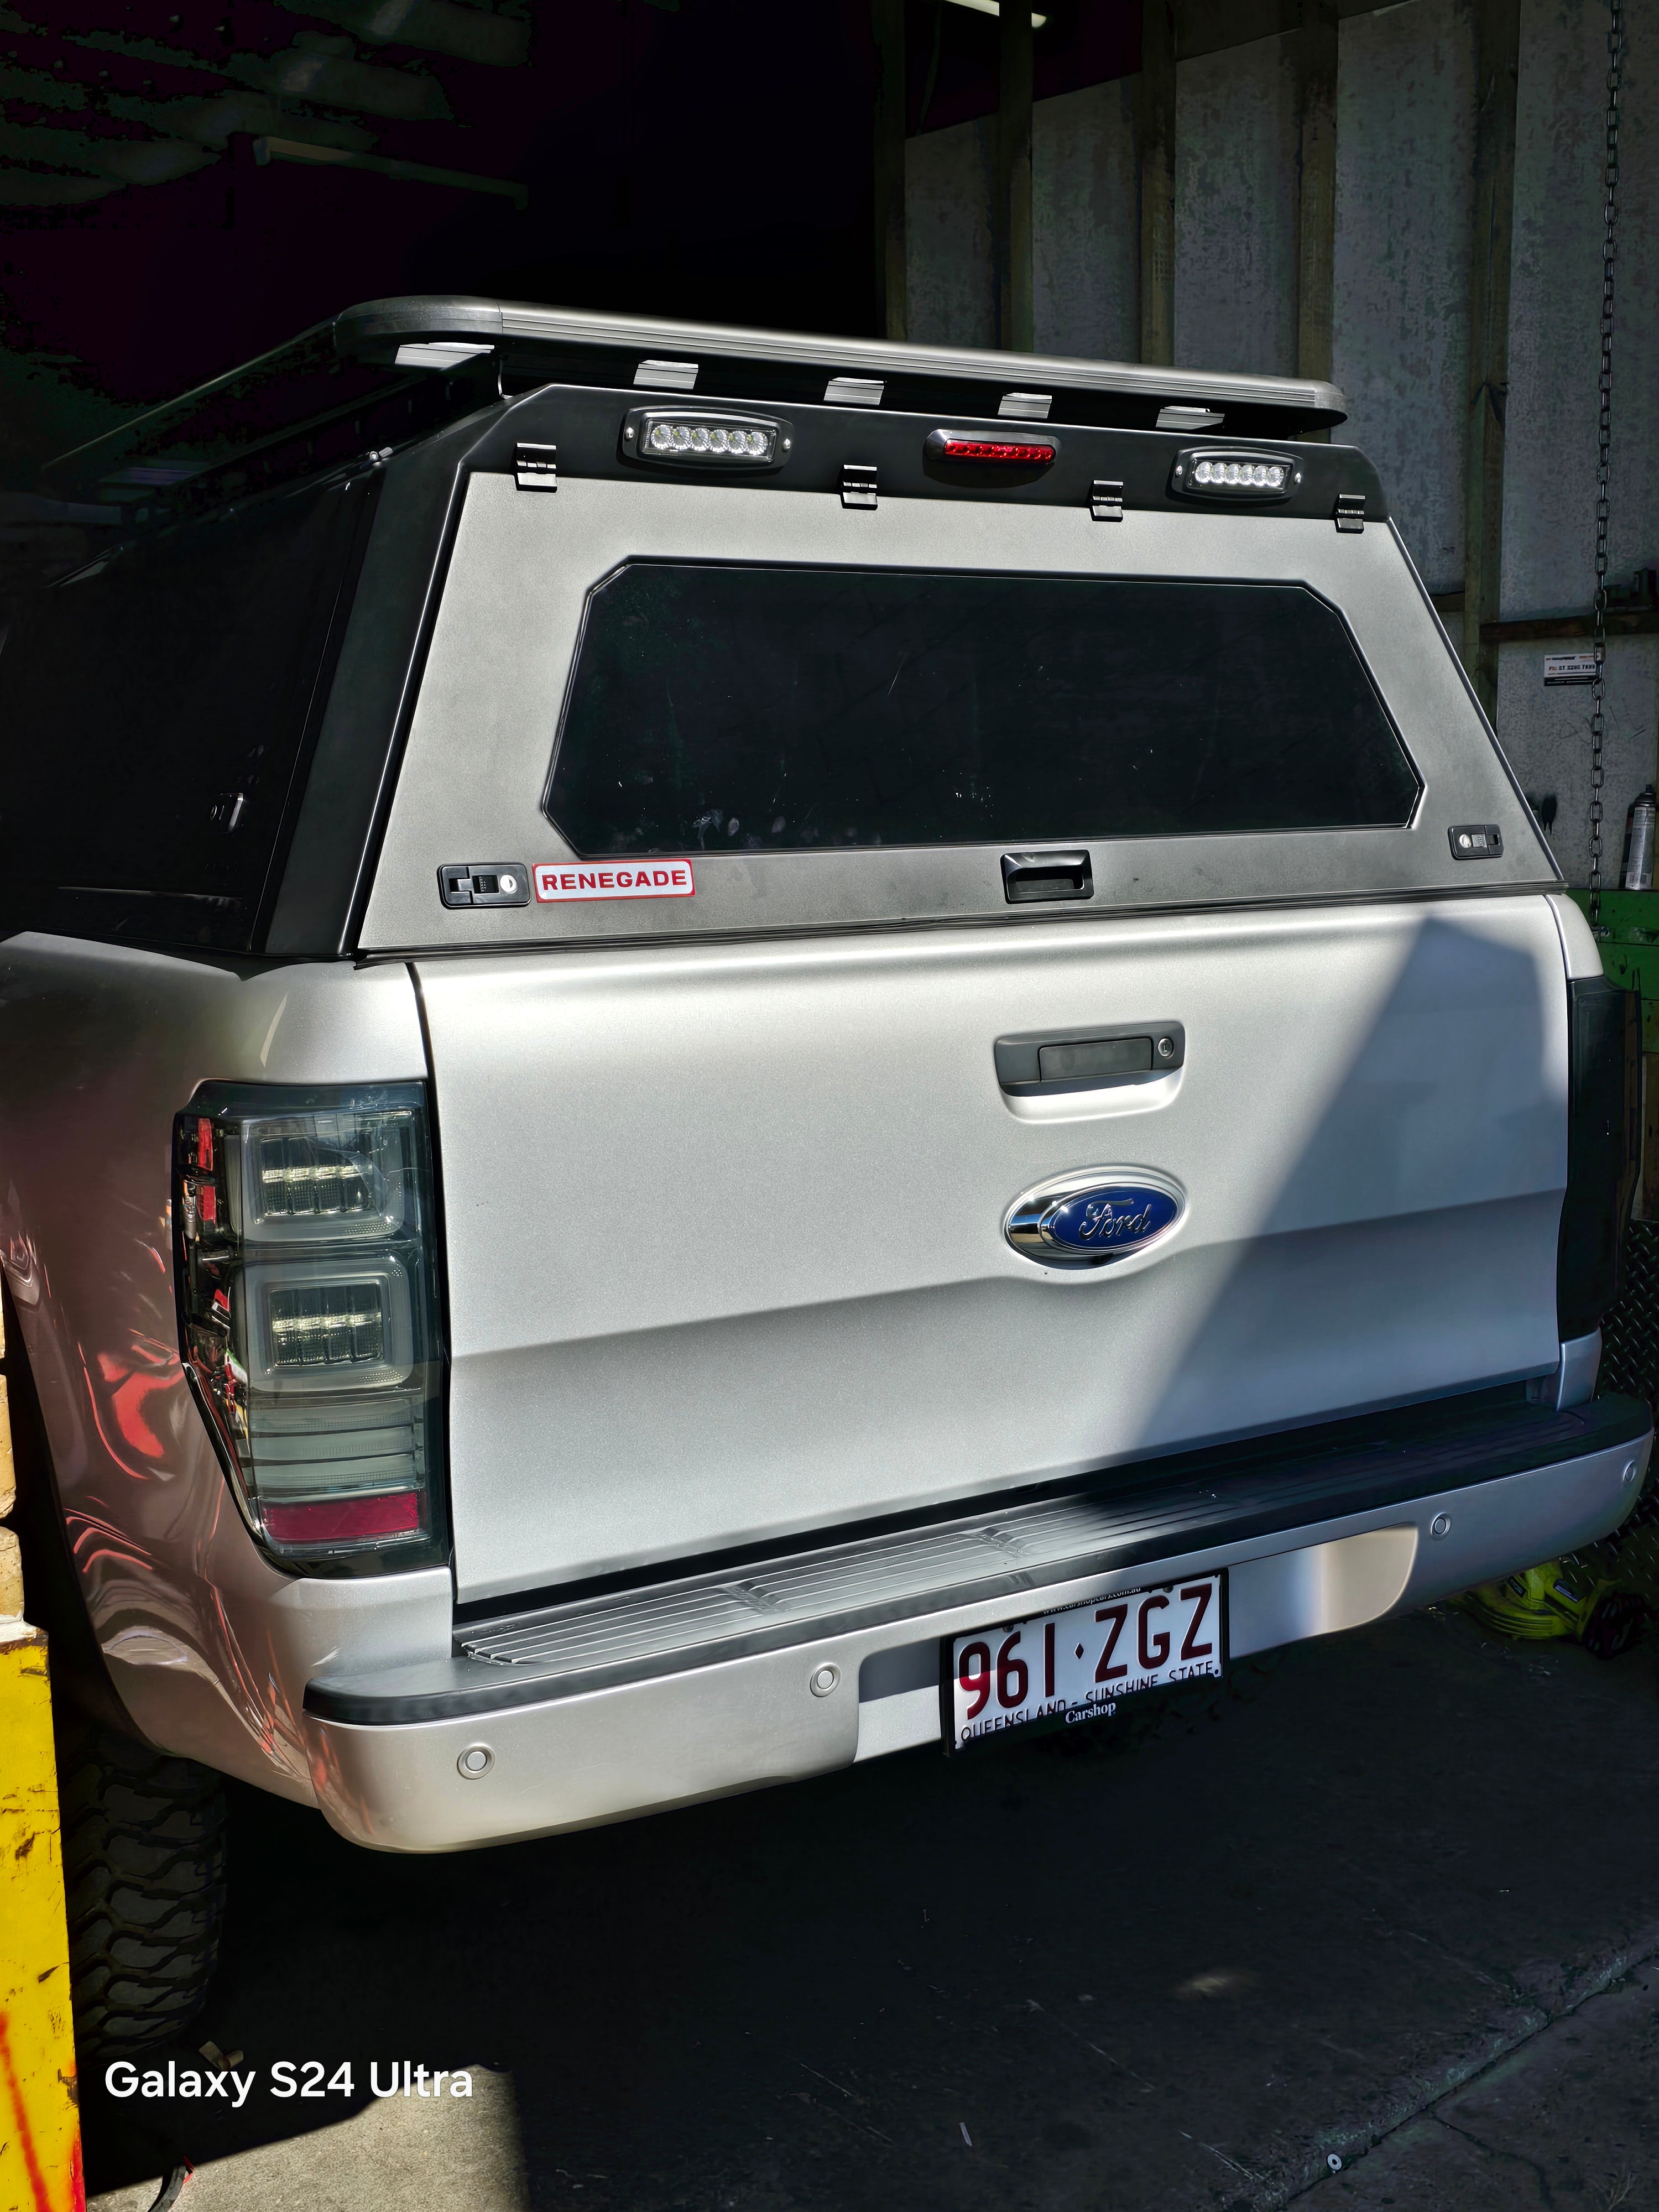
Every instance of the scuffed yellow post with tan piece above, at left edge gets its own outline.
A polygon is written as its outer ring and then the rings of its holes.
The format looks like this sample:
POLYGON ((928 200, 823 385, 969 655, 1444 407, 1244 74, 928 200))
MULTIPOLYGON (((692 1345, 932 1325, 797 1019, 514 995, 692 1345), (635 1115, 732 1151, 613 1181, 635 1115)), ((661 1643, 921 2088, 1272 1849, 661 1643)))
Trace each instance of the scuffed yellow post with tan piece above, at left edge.
MULTIPOLYGON (((0 1513, 9 1509, 0 1380, 0 1513)), ((15 1537, 0 1528, 0 2205, 84 2212, 46 1637, 20 1610, 15 1537)))

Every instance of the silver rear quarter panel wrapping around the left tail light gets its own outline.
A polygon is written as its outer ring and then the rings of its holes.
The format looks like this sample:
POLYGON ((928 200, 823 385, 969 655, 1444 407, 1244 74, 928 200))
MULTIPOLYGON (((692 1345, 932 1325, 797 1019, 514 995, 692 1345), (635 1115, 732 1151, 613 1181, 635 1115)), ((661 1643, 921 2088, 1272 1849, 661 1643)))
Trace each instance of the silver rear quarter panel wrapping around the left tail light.
POLYGON ((422 1077, 409 971, 22 936, 0 1035, 0 1256, 115 1690, 153 1743, 310 1803, 305 1683, 447 1652, 451 1582, 305 1582, 254 1548, 179 1363, 173 1115, 212 1077, 422 1077))

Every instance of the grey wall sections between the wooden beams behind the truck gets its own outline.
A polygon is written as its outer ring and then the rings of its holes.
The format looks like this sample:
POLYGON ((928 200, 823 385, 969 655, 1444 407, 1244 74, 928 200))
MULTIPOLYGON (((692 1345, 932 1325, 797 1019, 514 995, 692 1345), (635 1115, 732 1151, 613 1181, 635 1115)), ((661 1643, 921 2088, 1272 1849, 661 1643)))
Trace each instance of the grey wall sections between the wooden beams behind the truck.
MULTIPOLYGON (((1504 619, 1584 611, 1593 588, 1606 0, 1522 0, 1504 619)), ((1626 4, 1610 571, 1659 564, 1659 4, 1626 4)), ((1340 27, 1334 376, 1429 591, 1462 584, 1473 210, 1471 0, 1407 0, 1340 27)), ((1135 82, 1037 102, 1035 325, 1044 352, 1135 358, 1135 82)), ((989 345, 991 124, 909 142, 909 327, 989 345)), ((1177 358, 1294 369, 1292 40, 1177 71, 1177 358)), ((1453 619, 1455 628, 1455 619, 1453 619)), ((1553 843, 1588 856, 1588 692, 1544 690, 1548 641, 1502 648, 1498 723, 1524 787, 1555 792, 1553 843)), ((1610 865, 1655 776, 1659 639, 1608 653, 1610 865)))

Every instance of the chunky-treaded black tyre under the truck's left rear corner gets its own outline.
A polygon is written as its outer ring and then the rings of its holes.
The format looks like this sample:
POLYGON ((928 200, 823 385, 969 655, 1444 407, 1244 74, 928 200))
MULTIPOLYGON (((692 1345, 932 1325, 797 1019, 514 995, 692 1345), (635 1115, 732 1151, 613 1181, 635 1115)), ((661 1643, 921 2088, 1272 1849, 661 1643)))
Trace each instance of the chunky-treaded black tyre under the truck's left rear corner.
POLYGON ((69 1975, 82 2057, 179 2035, 226 1911, 219 1776, 77 1723, 60 1745, 69 1975))

